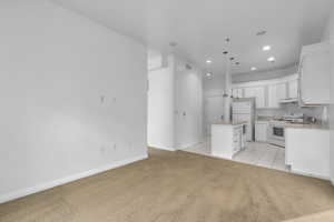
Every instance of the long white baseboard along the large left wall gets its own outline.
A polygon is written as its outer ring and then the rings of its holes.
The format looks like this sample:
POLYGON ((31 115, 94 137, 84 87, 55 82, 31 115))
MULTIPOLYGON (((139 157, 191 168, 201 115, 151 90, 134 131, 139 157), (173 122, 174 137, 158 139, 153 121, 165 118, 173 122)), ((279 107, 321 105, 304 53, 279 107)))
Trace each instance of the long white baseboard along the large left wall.
POLYGON ((30 195, 30 194, 33 194, 33 193, 38 193, 38 192, 41 192, 41 191, 45 191, 45 190, 48 190, 48 189, 51 189, 51 188, 55 188, 55 186, 58 186, 58 185, 62 185, 65 183, 69 183, 69 182, 72 182, 72 181, 76 181, 76 180, 79 180, 79 179, 82 179, 82 178, 87 178, 87 176, 97 174, 97 173, 101 173, 104 171, 111 170, 111 169, 115 169, 115 168, 119 168, 119 167, 122 167, 122 165, 126 165, 126 164, 129 164, 129 163, 132 163, 132 162, 136 162, 136 161, 139 161, 139 160, 144 160, 144 159, 147 159, 147 158, 148 158, 148 155, 144 154, 144 155, 130 158, 130 159, 127 159, 127 160, 116 161, 114 163, 104 165, 104 167, 98 168, 98 169, 88 170, 86 172, 77 173, 77 174, 69 175, 69 176, 58 179, 58 180, 55 180, 55 181, 50 181, 50 182, 46 182, 46 183, 38 184, 38 185, 35 185, 35 186, 24 188, 24 189, 12 191, 12 192, 9 192, 9 193, 6 193, 6 194, 1 194, 0 195, 0 203, 12 201, 12 200, 16 200, 16 199, 19 199, 19 198, 22 198, 22 196, 26 196, 26 195, 30 195))

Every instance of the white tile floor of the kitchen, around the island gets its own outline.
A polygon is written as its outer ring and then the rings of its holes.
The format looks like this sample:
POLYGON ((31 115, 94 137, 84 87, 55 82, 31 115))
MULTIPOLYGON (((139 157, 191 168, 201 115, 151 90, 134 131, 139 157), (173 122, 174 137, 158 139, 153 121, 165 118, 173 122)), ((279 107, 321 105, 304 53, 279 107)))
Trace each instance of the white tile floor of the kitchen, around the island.
MULTIPOLYGON (((210 155, 209 139, 203 143, 187 148, 184 151, 210 155)), ((288 167, 285 165, 284 148, 271 145, 268 143, 249 142, 247 148, 238 152, 233 160, 281 171, 289 171, 288 167)))

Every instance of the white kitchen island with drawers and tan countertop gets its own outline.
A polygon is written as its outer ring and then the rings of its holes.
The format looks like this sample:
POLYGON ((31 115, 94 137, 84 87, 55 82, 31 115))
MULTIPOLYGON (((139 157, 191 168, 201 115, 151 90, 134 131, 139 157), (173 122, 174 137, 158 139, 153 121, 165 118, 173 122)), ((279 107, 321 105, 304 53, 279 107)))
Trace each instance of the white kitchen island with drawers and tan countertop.
POLYGON ((246 148, 247 122, 217 122, 212 124, 212 155, 232 160, 246 148))

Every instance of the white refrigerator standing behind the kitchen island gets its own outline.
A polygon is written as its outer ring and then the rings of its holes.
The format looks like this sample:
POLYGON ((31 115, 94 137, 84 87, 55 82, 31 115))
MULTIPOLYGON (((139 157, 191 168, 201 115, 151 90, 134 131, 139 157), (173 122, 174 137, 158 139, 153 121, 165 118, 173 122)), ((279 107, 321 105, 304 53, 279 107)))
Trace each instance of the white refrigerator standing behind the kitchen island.
POLYGON ((232 103, 233 122, 246 123, 246 139, 254 141, 255 137, 255 98, 234 99, 232 103))

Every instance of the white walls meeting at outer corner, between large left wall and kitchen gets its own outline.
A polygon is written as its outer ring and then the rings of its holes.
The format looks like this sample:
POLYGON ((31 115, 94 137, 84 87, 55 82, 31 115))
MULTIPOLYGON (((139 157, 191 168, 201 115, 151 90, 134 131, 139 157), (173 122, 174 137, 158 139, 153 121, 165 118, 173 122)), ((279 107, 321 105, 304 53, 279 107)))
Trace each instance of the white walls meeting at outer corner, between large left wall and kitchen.
POLYGON ((148 144, 175 151, 203 142, 203 75, 168 56, 168 65, 149 71, 148 144))

